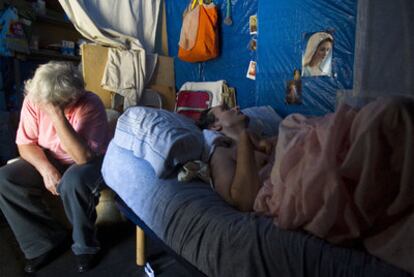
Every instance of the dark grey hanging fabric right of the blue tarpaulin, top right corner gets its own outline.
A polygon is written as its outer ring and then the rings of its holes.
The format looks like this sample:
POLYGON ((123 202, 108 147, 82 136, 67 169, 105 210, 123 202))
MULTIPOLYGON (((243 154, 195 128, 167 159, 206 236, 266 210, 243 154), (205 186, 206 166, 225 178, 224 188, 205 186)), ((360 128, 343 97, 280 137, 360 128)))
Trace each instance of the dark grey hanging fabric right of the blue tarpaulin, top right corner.
POLYGON ((414 96, 414 1, 359 0, 354 95, 414 96))

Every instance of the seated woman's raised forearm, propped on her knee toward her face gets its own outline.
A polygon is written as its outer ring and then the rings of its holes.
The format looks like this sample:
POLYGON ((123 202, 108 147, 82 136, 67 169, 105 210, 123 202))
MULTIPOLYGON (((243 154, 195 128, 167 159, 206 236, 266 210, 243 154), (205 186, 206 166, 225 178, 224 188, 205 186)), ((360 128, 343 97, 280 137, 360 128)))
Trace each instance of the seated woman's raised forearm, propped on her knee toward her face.
POLYGON ((52 120, 62 148, 76 164, 85 164, 95 157, 94 152, 66 119, 63 108, 52 104, 43 104, 42 109, 52 120))

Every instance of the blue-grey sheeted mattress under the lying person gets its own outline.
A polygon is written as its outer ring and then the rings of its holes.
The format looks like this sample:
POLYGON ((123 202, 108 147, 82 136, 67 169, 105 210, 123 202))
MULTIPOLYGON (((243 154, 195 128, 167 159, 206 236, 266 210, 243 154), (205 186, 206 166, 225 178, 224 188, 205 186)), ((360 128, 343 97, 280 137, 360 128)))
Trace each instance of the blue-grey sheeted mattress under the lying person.
POLYGON ((159 179, 148 162, 114 142, 102 173, 166 245, 208 276, 410 276, 361 250, 239 212, 201 181, 159 179))

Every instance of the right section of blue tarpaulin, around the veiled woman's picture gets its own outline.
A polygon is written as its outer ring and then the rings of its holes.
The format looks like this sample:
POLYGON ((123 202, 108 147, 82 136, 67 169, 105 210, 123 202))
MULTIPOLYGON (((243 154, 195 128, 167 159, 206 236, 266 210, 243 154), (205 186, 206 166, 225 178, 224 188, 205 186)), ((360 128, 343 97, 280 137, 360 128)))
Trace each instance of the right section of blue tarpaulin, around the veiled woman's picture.
POLYGON ((320 115, 335 108, 336 91, 351 89, 356 0, 260 0, 256 105, 270 104, 281 115, 320 115), (331 31, 332 77, 303 77, 302 104, 285 101, 286 82, 302 67, 306 34, 331 31))

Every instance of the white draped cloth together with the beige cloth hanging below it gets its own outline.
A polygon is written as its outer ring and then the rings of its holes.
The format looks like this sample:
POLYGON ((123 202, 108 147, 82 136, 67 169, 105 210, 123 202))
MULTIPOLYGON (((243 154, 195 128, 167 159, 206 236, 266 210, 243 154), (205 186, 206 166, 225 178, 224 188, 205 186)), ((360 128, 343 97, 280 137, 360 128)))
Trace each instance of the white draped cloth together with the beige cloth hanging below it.
POLYGON ((112 47, 103 87, 124 96, 124 108, 137 105, 157 62, 156 55, 146 52, 152 53, 155 48, 161 0, 59 2, 85 38, 112 47))

